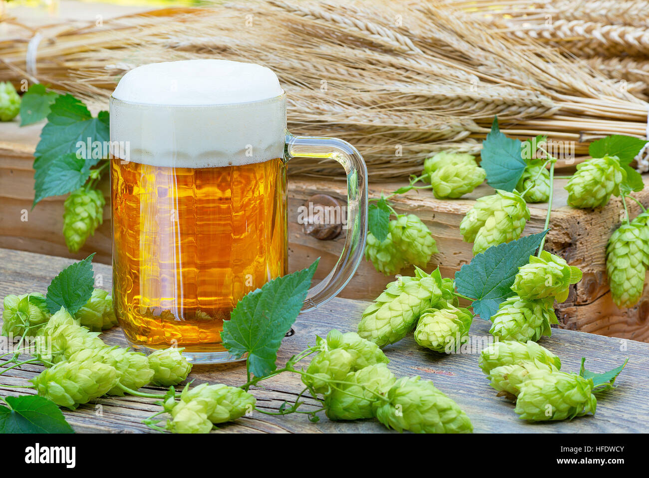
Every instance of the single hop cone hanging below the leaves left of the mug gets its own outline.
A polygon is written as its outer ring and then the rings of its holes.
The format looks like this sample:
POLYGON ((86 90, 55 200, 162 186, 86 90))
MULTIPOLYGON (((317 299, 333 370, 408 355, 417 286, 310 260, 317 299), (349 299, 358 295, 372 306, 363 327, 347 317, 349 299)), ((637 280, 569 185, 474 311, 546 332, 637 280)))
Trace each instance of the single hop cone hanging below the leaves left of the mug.
POLYGON ((104 204, 101 192, 86 187, 67 197, 63 204, 63 235, 70 252, 79 251, 86 239, 95 233, 103 221, 104 204))

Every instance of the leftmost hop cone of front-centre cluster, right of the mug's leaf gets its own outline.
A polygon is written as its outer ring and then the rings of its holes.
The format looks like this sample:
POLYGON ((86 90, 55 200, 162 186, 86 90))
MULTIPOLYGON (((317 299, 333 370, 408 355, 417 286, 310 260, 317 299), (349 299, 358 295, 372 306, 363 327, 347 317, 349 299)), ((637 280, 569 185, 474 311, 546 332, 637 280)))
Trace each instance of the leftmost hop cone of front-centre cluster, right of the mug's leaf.
POLYGON ((345 380, 347 374, 353 371, 356 359, 358 353, 353 350, 323 350, 311 359, 306 368, 306 373, 311 376, 302 375, 302 382, 316 394, 328 395, 331 392, 330 381, 345 380))

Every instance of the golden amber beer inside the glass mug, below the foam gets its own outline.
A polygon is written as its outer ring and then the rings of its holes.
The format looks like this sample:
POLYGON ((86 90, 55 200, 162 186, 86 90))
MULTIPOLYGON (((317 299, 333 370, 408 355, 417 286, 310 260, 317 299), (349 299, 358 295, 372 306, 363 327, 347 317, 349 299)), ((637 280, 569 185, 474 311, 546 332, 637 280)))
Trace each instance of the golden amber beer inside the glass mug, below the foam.
POLYGON ((286 274, 286 166, 111 162, 114 302, 129 342, 224 350, 223 320, 286 274))

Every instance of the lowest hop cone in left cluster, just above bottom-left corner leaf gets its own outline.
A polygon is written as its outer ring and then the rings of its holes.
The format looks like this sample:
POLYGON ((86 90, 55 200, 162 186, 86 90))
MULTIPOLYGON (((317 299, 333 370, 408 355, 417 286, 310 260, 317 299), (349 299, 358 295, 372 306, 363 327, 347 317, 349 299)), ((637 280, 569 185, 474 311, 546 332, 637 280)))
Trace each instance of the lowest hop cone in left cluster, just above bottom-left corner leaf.
POLYGON ((59 407, 76 409, 81 403, 101 397, 117 383, 117 371, 93 360, 61 362, 43 370, 32 380, 38 395, 59 407))

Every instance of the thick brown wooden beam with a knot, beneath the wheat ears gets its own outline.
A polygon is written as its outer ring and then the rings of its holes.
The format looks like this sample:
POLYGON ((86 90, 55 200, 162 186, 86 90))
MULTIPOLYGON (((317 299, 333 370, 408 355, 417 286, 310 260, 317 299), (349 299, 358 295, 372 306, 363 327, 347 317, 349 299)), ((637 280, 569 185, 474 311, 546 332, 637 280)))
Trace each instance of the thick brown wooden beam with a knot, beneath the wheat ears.
MULTIPOLYGON (((104 223, 77 254, 67 251, 62 230, 64 196, 48 197, 33 210, 33 170, 31 169, 34 144, 42 124, 19 128, 16 123, 0 125, 0 247, 21 249, 62 257, 83 258, 95 252, 95 260, 110 264, 111 233, 110 209, 104 209, 104 223)), ((290 164, 290 163, 289 163, 290 164)), ((342 170, 341 170, 342 172, 342 170)), ((644 178, 649 184, 649 175, 644 178)), ((578 210, 567 207, 565 180, 556 180, 551 230, 547 248, 559 253, 570 264, 582 269, 579 284, 572 287, 569 299, 557 310, 561 327, 604 333, 635 340, 649 340, 649 288, 633 308, 618 308, 613 304, 607 284, 605 267, 606 242, 620 224, 623 210, 620 199, 599 210, 578 210)), ((391 192, 402 186, 401 182, 371 184, 370 197, 380 192, 391 192)), ((108 183, 101 184, 108 197, 108 183)), ((471 244, 463 242, 459 223, 474 204, 474 200, 493 191, 483 184, 463 199, 442 201, 428 190, 413 191, 393 198, 399 213, 415 212, 431 229, 439 253, 434 255, 428 269, 439 266, 445 277, 452 277, 463 264, 471 261, 471 244)), ((315 278, 322 279, 336 263, 344 242, 341 235, 336 240, 321 241, 304 234, 297 221, 298 208, 313 194, 329 194, 344 203, 347 189, 342 181, 319 180, 304 177, 289 179, 289 270, 308 266, 321 257, 315 278)), ((649 205, 649 188, 635 194, 644 205, 649 205)), ((629 206, 631 217, 639 213, 635 203, 629 206)), ((524 234, 543 229, 547 206, 530 205, 532 218, 524 234)), ((402 271, 403 274, 411 270, 402 271)), ((350 299, 373 299, 384 289, 390 277, 374 270, 371 263, 363 261, 355 280, 341 293, 350 299)))

